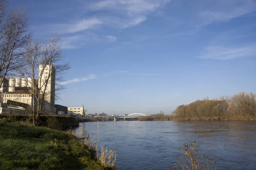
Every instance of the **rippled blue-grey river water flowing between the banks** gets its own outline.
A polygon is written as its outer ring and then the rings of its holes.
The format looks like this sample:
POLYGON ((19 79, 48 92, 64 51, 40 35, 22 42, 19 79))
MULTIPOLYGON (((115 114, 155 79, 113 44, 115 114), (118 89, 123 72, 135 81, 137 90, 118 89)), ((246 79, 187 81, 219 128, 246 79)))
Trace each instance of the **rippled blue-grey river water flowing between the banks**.
POLYGON ((74 131, 84 130, 116 151, 118 170, 168 170, 191 140, 220 170, 256 170, 256 121, 84 122, 74 131))

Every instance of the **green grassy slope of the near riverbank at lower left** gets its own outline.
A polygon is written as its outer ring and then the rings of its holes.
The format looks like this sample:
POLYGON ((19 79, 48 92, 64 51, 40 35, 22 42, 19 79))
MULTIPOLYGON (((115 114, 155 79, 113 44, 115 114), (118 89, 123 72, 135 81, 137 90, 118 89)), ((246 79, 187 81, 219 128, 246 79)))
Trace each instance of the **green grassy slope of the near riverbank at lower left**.
POLYGON ((75 136, 46 127, 0 123, 0 170, 102 170, 75 136))

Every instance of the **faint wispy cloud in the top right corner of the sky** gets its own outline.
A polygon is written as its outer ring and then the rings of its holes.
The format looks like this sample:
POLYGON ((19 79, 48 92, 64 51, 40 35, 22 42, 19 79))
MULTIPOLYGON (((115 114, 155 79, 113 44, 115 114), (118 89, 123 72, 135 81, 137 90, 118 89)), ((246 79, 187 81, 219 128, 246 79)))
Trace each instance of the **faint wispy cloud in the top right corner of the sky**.
POLYGON ((204 24, 228 21, 256 10, 255 0, 216 0, 214 4, 211 6, 211 10, 204 10, 199 13, 204 24))

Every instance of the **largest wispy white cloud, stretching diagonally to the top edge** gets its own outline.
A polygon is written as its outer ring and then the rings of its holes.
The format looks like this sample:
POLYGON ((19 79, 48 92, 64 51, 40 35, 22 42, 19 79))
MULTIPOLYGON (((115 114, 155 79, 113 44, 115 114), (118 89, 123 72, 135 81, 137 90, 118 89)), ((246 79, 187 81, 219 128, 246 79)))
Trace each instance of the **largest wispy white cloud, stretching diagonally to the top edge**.
POLYGON ((63 34, 76 33, 99 26, 127 28, 137 26, 147 19, 147 15, 162 8, 171 0, 102 0, 93 1, 81 12, 96 12, 91 17, 78 17, 74 22, 49 24, 54 31, 63 34), (98 12, 100 11, 100 12, 98 12))

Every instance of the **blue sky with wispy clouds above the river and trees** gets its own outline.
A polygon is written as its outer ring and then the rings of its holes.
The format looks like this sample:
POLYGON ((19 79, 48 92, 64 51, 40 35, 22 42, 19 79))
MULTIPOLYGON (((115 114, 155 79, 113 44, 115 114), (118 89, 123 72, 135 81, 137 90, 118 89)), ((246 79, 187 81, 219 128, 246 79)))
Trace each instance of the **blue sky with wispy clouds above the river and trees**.
POLYGON ((172 113, 256 92, 255 0, 9 0, 35 37, 60 33, 71 69, 57 104, 172 113))

